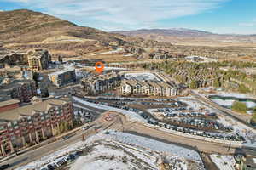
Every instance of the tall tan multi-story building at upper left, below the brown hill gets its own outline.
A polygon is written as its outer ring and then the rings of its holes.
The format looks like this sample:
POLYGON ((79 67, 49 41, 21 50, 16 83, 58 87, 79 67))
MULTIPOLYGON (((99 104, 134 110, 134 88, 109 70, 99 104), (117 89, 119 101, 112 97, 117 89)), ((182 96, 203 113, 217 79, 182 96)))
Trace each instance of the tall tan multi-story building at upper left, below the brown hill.
POLYGON ((29 51, 26 56, 29 68, 32 71, 41 71, 47 69, 49 62, 51 61, 49 52, 43 49, 35 49, 33 51, 29 51))

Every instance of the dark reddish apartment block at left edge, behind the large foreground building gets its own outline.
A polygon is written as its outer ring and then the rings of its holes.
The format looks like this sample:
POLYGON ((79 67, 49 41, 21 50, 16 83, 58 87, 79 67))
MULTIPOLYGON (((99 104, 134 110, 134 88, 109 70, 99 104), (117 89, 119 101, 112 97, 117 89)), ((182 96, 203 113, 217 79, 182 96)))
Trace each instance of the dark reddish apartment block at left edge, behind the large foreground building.
POLYGON ((33 80, 19 79, 0 86, 1 94, 9 95, 20 102, 29 102, 37 95, 36 83, 33 80))

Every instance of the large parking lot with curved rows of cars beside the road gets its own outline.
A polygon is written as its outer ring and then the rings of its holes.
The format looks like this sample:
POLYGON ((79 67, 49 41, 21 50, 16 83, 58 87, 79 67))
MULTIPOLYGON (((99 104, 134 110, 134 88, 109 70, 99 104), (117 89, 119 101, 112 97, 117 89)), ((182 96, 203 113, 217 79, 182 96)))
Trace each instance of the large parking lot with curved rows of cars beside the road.
POLYGON ((102 102, 95 100, 90 100, 90 102, 136 112, 146 122, 156 127, 164 127, 177 132, 189 133, 211 139, 245 141, 239 133, 230 133, 233 131, 232 127, 226 127, 218 122, 217 113, 207 110, 195 111, 177 99, 124 99, 113 97, 99 97, 97 99, 101 99, 102 102), (166 107, 162 106, 163 102, 167 105, 166 107), (130 105, 140 105, 140 108, 143 109, 137 109, 130 105), (150 108, 151 111, 147 111, 150 108), (156 118, 154 113, 157 112, 164 118, 156 118))

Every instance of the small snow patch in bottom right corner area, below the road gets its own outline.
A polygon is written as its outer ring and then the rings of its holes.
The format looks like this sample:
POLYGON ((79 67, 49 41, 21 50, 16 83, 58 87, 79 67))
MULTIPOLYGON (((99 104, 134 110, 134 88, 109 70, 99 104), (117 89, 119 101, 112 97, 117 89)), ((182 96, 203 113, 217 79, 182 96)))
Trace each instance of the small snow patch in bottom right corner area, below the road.
POLYGON ((235 170, 236 161, 233 156, 210 155, 219 170, 235 170))

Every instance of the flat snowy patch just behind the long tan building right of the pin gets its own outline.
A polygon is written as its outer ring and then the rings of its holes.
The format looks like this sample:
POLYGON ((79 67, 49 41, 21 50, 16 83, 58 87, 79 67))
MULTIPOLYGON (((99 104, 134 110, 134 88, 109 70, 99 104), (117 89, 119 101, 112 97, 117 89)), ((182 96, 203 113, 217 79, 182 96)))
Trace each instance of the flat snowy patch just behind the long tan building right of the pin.
POLYGON ((160 79, 150 72, 131 72, 125 74, 126 79, 160 81, 160 79))

